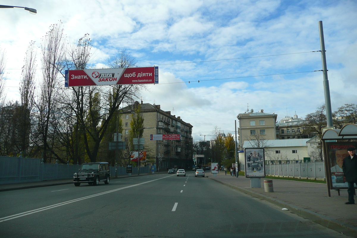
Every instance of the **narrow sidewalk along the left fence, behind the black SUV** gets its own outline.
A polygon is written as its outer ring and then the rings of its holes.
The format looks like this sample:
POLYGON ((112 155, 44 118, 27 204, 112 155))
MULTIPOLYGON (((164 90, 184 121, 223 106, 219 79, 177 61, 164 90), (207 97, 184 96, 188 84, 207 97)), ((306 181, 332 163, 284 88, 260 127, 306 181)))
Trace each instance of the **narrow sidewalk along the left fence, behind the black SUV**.
MULTIPOLYGON (((157 174, 158 172, 155 172, 157 174)), ((160 173, 167 173, 167 172, 160 172, 160 173)), ((139 176, 149 175, 150 173, 141 173, 139 176)), ((131 174, 131 176, 127 175, 118 175, 117 178, 111 177, 110 179, 118 179, 118 178, 128 178, 128 177, 136 177, 137 174, 131 174)), ((24 182, 24 183, 6 183, 0 184, 0 192, 4 191, 11 191, 17 189, 26 189, 26 188, 38 188, 38 187, 47 187, 47 186, 56 186, 61 184, 71 184, 73 183, 73 178, 65 178, 65 179, 51 179, 51 180, 44 180, 38 182, 24 182)))

